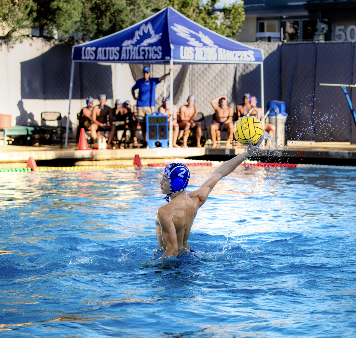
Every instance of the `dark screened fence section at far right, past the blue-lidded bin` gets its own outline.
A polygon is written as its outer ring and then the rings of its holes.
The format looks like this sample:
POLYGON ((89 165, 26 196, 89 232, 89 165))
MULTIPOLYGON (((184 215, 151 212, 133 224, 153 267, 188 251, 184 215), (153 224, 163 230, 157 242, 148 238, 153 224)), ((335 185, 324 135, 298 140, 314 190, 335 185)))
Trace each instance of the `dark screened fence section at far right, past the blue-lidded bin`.
MULTIPOLYGON (((281 48, 282 101, 289 117, 288 139, 356 142, 356 128, 340 87, 354 83, 355 43, 299 42, 281 48)), ((352 88, 347 91, 352 98, 352 88)))

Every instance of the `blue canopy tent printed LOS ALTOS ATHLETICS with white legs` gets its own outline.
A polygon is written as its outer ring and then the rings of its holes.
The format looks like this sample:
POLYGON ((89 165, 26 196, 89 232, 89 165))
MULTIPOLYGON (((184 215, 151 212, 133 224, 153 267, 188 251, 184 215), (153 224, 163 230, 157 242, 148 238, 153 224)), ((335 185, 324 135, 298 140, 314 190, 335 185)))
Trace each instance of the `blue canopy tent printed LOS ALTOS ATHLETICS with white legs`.
MULTIPOLYGON (((72 99, 75 62, 119 62, 150 64, 254 63, 261 64, 261 106, 264 111, 263 51, 215 33, 188 19, 172 7, 166 7, 136 25, 85 42, 72 49, 69 109, 66 143, 68 142, 70 101, 72 99)), ((173 102, 173 74, 170 76, 173 102)), ((172 147, 172 114, 170 111, 169 147, 172 147)))

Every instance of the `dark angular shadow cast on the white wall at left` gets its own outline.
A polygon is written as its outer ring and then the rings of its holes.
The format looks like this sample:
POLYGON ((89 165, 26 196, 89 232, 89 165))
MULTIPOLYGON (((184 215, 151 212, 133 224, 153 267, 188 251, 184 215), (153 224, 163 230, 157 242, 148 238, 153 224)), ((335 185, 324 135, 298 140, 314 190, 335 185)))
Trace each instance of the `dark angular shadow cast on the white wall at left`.
MULTIPOLYGON (((71 55, 71 46, 60 45, 34 59, 21 62, 22 99, 67 100, 71 55)), ((73 99, 84 99, 87 96, 96 98, 100 93, 112 99, 111 65, 76 62, 73 99)))

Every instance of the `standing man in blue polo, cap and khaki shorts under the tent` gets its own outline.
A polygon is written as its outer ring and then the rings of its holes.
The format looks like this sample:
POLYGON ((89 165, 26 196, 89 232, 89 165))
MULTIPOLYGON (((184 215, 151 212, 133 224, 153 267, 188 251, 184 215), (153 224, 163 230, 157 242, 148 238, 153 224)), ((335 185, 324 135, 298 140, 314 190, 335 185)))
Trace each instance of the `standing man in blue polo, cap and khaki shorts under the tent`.
MULTIPOLYGON (((173 70, 172 70, 173 71, 173 70)), ((133 99, 137 100, 137 122, 141 125, 143 146, 147 147, 146 140, 146 115, 151 115, 156 111, 156 86, 161 81, 168 78, 168 74, 164 74, 160 78, 150 78, 151 68, 143 68, 143 78, 138 79, 131 89, 133 99), (138 89, 138 96, 135 96, 135 90, 138 89)))

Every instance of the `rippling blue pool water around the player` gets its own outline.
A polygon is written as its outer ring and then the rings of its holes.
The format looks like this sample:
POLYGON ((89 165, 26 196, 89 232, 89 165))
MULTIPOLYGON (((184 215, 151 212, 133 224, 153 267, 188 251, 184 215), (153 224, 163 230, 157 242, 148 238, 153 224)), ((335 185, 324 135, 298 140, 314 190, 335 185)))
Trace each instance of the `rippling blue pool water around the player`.
POLYGON ((239 167, 166 260, 161 172, 1 173, 1 338, 355 337, 356 169, 239 167))

